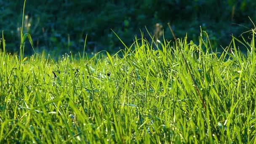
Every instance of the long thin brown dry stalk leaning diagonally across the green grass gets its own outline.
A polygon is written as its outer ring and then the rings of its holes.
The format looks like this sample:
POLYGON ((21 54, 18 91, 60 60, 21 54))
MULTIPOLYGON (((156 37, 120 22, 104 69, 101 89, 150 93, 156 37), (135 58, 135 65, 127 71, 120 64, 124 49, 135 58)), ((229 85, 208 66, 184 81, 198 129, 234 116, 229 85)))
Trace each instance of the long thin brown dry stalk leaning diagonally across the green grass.
MULTIPOLYGON (((169 26, 169 28, 170 28, 170 30, 171 30, 171 33, 172 33, 173 38, 174 38, 174 40, 175 40, 175 43, 178 45, 178 48, 181 48, 181 46, 180 46, 179 43, 177 42, 176 36, 174 35, 173 29, 171 28, 171 24, 168 23, 168 26, 169 26)), ((191 79, 192 79, 192 81, 193 81, 193 83, 194 83, 194 85, 195 85, 196 91, 197 91, 197 93, 198 93, 198 95, 199 95, 199 98, 200 98, 200 100, 201 100, 202 103, 203 103, 203 107, 205 108, 205 111, 206 111, 207 109, 206 109, 205 101, 203 100, 203 98, 202 98, 202 96, 201 96, 201 93, 200 93, 200 91, 199 91, 198 85, 196 84, 195 79, 194 79, 193 76, 192 76, 192 72, 190 71, 189 66, 188 66, 188 64, 187 64, 187 60, 186 60, 186 58, 185 58, 185 56, 183 55, 182 52, 181 52, 181 56, 182 56, 182 58, 183 58, 183 60, 184 60, 184 62, 185 62, 185 65, 186 65, 186 67, 187 67, 187 69, 188 69, 188 71, 189 71, 189 75, 190 75, 190 77, 191 77, 191 79)))

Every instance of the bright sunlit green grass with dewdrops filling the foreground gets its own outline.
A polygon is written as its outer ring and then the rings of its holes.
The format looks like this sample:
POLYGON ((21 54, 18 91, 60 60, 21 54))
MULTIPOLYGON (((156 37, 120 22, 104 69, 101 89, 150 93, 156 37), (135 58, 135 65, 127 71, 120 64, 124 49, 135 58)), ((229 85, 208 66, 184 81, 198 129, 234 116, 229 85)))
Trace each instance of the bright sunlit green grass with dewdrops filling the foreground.
POLYGON ((3 37, 0 143, 256 143, 255 40, 246 55, 235 37, 221 53, 178 41, 53 61, 3 37))

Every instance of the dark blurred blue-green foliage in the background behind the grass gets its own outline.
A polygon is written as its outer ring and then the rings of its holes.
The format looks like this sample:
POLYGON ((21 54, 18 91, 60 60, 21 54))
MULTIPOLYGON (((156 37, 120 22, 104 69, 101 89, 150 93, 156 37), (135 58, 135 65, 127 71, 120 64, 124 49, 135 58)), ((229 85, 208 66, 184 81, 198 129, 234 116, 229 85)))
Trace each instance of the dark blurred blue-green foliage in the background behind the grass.
MULTIPOLYGON (((0 5, 6 47, 17 52, 23 0, 0 1, 0 5)), ((255 21, 255 9, 255 0, 27 0, 24 32, 31 34, 38 52, 81 52, 86 34, 87 52, 116 52, 124 46, 111 29, 131 45, 134 35, 141 36, 140 30, 149 38, 145 26, 154 35, 157 24, 171 40, 170 22, 176 37, 187 33, 189 40, 197 41, 201 26, 213 47, 226 47, 230 35, 239 37, 254 28, 248 16, 255 21)))

